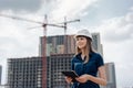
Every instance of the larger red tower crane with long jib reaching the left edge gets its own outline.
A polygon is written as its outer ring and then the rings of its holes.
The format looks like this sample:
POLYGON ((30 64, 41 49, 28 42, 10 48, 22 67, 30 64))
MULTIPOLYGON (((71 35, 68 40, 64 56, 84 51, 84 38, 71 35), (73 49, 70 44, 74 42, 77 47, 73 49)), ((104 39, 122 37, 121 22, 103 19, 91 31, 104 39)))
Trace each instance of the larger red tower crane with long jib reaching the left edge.
POLYGON ((27 21, 27 22, 32 22, 32 23, 38 23, 41 24, 43 28, 43 38, 42 38, 42 51, 41 51, 41 56, 42 56, 42 88, 47 88, 47 26, 57 26, 57 28, 64 28, 63 25, 58 25, 58 24, 51 24, 48 23, 47 15, 44 16, 44 22, 40 21, 33 21, 33 20, 28 20, 24 18, 19 18, 19 16, 13 16, 13 15, 8 15, 8 14, 0 14, 0 16, 4 18, 10 18, 13 20, 21 20, 21 21, 27 21))

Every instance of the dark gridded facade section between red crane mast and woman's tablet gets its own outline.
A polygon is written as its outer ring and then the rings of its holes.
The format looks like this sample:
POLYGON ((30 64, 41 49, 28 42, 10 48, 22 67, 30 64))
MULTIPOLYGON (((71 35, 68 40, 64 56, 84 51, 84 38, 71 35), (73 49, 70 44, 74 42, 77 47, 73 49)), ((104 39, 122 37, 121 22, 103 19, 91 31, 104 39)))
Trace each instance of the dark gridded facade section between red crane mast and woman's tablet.
POLYGON ((73 54, 54 54, 48 61, 48 87, 47 88, 71 88, 64 80, 62 70, 71 69, 73 54))

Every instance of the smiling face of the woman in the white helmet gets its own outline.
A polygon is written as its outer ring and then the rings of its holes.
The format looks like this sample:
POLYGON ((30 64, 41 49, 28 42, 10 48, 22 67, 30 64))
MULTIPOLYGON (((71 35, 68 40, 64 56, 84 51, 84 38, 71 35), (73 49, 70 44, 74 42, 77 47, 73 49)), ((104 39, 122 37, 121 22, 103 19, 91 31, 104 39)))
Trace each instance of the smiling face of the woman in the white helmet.
POLYGON ((86 46, 86 37, 83 36, 76 37, 76 45, 80 50, 83 50, 86 46))

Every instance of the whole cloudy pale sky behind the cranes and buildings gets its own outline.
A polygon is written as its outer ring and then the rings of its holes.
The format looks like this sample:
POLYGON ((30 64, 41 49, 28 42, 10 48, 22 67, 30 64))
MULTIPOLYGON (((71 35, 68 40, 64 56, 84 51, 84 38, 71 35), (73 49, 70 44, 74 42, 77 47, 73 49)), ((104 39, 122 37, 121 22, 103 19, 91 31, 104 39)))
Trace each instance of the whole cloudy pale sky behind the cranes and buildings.
MULTIPOLYGON (((133 86, 133 0, 0 0, 0 14, 24 18, 35 22, 68 24, 66 34, 81 29, 100 32, 105 63, 115 64, 116 86, 133 86)), ((43 35, 40 23, 0 15, 0 65, 2 84, 7 78, 7 59, 39 55, 43 35)), ((48 26, 47 35, 64 34, 62 28, 48 26)))

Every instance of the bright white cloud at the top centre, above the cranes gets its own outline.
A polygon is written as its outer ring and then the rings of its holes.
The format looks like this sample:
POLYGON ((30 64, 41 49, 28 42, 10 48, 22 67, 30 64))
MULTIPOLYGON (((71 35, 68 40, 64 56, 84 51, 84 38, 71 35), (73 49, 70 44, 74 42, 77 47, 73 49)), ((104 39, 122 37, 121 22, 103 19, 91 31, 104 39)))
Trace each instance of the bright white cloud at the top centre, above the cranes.
POLYGON ((98 0, 57 0, 53 3, 54 10, 50 13, 53 20, 59 20, 64 16, 78 18, 80 15, 86 14, 86 10, 90 6, 98 2, 98 0))

